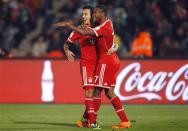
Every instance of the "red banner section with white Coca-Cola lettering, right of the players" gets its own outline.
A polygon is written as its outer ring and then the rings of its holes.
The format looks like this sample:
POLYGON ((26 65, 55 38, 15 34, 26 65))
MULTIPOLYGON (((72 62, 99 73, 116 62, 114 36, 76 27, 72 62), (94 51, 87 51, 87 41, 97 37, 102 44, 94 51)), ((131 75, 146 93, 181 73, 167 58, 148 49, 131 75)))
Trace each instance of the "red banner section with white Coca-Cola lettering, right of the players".
POLYGON ((126 103, 188 104, 188 61, 124 61, 116 94, 126 103))

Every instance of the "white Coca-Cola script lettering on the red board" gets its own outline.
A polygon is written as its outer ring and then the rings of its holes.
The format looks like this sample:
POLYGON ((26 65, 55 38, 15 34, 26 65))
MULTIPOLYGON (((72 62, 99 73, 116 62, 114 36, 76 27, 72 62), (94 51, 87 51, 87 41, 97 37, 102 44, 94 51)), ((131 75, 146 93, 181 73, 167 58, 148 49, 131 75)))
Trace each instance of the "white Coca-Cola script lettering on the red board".
POLYGON ((152 71, 147 71, 141 73, 141 65, 139 63, 132 63, 119 73, 115 93, 123 101, 138 98, 150 101, 164 99, 159 94, 161 90, 164 90, 165 99, 168 101, 175 101, 177 99, 188 101, 187 80, 188 64, 183 65, 174 72, 158 71, 153 73, 152 71), (125 91, 126 95, 123 95, 121 90, 125 91), (133 91, 136 91, 136 93, 131 94, 133 91))

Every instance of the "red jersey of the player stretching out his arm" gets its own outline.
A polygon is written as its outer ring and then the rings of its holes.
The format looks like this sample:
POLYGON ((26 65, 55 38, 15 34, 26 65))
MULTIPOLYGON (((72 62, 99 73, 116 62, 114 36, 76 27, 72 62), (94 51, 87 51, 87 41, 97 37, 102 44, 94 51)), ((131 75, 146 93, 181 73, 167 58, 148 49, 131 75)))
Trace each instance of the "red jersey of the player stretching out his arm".
POLYGON ((114 29, 113 24, 109 19, 95 27, 91 28, 97 37, 97 50, 99 53, 99 62, 101 61, 111 61, 113 58, 117 58, 116 54, 107 55, 107 51, 114 47, 114 29), (110 58, 109 58, 110 57, 110 58))

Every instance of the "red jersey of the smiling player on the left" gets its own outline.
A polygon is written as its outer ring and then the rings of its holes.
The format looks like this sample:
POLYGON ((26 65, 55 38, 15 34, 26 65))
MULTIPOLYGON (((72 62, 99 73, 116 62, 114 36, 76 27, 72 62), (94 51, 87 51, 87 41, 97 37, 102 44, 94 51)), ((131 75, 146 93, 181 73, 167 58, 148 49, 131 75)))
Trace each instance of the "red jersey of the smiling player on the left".
POLYGON ((79 40, 81 48, 81 62, 89 62, 90 64, 97 63, 96 46, 94 44, 93 37, 83 36, 77 32, 72 32, 68 38, 68 41, 74 43, 79 40))

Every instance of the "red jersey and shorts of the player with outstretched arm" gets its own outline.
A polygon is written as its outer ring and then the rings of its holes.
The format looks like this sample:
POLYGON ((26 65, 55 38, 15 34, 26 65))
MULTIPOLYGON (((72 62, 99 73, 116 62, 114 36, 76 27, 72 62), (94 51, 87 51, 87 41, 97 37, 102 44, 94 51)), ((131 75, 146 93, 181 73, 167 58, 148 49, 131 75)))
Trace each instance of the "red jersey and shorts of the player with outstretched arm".
POLYGON ((95 86, 102 88, 115 87, 116 75, 120 67, 120 61, 116 54, 107 55, 110 48, 114 46, 114 29, 109 19, 91 28, 96 35, 99 62, 95 71, 95 86))

